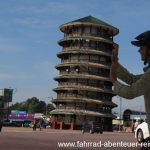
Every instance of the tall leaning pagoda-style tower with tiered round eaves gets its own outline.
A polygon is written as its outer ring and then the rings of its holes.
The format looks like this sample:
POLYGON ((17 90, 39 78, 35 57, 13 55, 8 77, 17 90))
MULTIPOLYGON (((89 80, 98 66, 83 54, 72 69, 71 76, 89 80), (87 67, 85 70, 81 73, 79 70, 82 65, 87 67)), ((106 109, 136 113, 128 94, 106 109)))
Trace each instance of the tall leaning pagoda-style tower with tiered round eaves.
POLYGON ((62 51, 57 54, 61 63, 56 66, 53 128, 79 129, 89 119, 103 121, 110 131, 115 117, 111 109, 117 105, 109 71, 113 36, 119 30, 92 16, 63 24, 60 30, 64 38, 58 42, 62 51))

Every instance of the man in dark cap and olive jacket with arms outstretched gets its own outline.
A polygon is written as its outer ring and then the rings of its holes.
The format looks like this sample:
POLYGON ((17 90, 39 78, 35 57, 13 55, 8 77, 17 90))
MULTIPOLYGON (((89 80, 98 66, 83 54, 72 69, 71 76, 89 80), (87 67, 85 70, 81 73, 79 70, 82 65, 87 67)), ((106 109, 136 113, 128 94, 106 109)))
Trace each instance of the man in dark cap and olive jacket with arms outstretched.
MULTIPOLYGON (((150 131, 150 31, 146 31, 138 35, 136 40, 131 43, 139 47, 141 60, 146 65, 143 69, 144 73, 133 75, 118 63, 118 45, 114 44, 112 52, 112 65, 110 69, 110 79, 114 85, 114 92, 120 97, 133 99, 144 95, 145 109, 148 128, 150 131), (117 80, 120 79, 127 84, 123 84, 117 80)), ((133 58, 134 59, 134 58, 133 58)))

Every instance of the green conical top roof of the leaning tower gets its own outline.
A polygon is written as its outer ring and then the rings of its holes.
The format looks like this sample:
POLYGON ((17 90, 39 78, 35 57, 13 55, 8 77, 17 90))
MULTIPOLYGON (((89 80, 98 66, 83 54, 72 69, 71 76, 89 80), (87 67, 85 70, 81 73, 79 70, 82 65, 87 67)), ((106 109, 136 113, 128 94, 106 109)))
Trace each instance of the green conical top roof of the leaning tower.
POLYGON ((71 22, 68 22, 68 23, 65 23, 65 24, 62 24, 60 26, 60 28, 63 28, 64 26, 68 26, 68 25, 75 25, 75 24, 95 24, 95 25, 99 25, 99 26, 102 26, 104 28, 110 28, 113 30, 114 34, 118 34, 119 33, 119 29, 117 29, 116 27, 100 20, 100 19, 97 19, 93 16, 87 16, 87 17, 84 17, 84 18, 80 18, 80 19, 77 19, 77 20, 74 20, 74 21, 71 21, 71 22))

